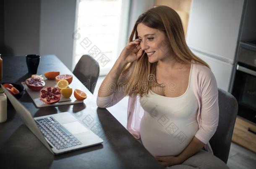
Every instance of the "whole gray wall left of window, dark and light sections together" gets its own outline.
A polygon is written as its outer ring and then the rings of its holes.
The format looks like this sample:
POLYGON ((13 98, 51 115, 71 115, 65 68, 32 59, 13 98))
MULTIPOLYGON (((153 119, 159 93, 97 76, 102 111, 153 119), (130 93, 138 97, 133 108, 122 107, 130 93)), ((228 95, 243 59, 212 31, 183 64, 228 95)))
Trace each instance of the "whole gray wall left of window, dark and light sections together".
POLYGON ((0 53, 56 55, 72 66, 76 0, 0 0, 0 53))

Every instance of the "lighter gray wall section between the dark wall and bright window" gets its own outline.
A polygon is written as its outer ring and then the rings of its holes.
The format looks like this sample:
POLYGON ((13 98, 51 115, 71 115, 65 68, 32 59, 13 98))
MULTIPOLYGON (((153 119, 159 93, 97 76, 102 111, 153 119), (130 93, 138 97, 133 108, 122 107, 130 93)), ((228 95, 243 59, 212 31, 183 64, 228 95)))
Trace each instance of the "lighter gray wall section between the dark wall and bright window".
POLYGON ((39 54, 56 55, 72 68, 76 0, 42 0, 39 54))

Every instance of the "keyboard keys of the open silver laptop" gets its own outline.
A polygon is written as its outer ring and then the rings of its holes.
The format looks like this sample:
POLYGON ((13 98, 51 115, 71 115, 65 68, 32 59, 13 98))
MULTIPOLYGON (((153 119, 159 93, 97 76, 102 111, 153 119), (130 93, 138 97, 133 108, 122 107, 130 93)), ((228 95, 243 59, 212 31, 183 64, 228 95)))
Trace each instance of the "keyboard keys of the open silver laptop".
POLYGON ((58 150, 81 145, 81 142, 53 117, 37 119, 35 122, 43 136, 58 150))

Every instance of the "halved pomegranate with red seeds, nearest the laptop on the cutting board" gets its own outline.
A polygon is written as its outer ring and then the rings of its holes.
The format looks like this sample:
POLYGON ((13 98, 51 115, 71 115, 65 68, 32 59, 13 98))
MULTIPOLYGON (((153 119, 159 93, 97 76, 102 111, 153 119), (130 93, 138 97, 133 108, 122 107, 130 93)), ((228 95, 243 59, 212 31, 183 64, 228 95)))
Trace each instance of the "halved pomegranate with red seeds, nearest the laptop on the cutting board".
POLYGON ((60 91, 55 87, 43 88, 40 91, 40 99, 46 104, 53 104, 60 101, 60 91))

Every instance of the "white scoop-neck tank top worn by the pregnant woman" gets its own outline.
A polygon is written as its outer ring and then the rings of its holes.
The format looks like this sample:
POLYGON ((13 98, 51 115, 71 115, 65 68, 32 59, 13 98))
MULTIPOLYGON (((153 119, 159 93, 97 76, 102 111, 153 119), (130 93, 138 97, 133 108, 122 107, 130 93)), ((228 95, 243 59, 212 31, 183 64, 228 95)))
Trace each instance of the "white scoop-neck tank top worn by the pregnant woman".
POLYGON ((191 83, 179 97, 165 97, 149 91, 140 97, 144 116, 141 119, 141 141, 153 156, 176 156, 191 142, 198 131, 198 103, 191 83))

